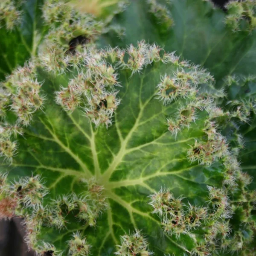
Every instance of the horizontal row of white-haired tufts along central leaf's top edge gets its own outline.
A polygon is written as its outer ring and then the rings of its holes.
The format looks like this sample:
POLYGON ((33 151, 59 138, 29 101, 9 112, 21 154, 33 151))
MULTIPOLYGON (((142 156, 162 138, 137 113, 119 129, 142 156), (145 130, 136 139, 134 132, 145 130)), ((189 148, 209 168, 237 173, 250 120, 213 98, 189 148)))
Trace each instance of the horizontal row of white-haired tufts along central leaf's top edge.
MULTIPOLYGON (((60 49, 60 51, 61 50, 63 51, 63 49, 60 49)), ((72 63, 72 66, 75 66, 78 70, 86 70, 84 73, 88 78, 90 78, 90 72, 96 73, 96 70, 99 68, 103 70, 103 65, 109 68, 111 64, 115 64, 115 67, 113 67, 114 70, 130 69, 132 74, 139 73, 148 64, 159 61, 164 64, 173 63, 177 67, 190 66, 187 61, 179 61, 179 57, 177 57, 174 52, 164 52, 157 44, 147 44, 144 40, 139 41, 137 47, 129 45, 126 49, 107 47, 106 49, 97 50, 93 45, 87 44, 87 47, 76 48, 73 55, 65 55, 64 52, 62 55, 56 56, 55 52, 52 52, 51 56, 42 56, 42 64, 54 73, 69 71, 67 65, 70 61, 75 63, 75 65, 72 63), (124 58, 125 54, 128 54, 127 60, 124 58), (46 58, 47 61, 45 61, 46 58), (64 65, 65 68, 62 68, 64 66, 56 62, 56 58, 63 58, 63 63, 66 63, 64 65), (106 62, 108 59, 109 61, 106 62), (102 61, 104 61, 104 63, 102 63, 102 61), (101 62, 101 64, 98 62, 101 62), (97 67, 98 65, 99 67, 97 67)), ((194 72, 196 73, 204 72, 204 70, 199 69, 198 66, 193 66, 192 68, 194 68, 194 72)), ((192 72, 193 71, 191 71, 191 73, 192 72)), ((193 75, 193 73, 191 75, 193 75)), ((107 77, 105 79, 107 79, 107 77)))

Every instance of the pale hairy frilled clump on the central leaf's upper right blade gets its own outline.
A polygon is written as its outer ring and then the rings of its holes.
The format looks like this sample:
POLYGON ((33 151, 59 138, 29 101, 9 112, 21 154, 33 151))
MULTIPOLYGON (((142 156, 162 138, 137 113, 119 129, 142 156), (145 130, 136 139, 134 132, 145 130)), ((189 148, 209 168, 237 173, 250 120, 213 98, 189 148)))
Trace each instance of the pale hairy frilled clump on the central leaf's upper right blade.
MULTIPOLYGON (((175 62, 172 61, 174 64, 175 62)), ((199 66, 189 65, 183 61, 184 67, 179 67, 172 75, 161 77, 161 82, 157 85, 157 99, 163 104, 170 104, 178 99, 186 99, 186 105, 180 105, 176 118, 168 118, 169 131, 175 136, 182 128, 189 128, 191 122, 197 119, 198 110, 203 111, 212 105, 213 99, 207 93, 198 93, 199 84, 206 84, 213 81, 213 77, 199 66)))

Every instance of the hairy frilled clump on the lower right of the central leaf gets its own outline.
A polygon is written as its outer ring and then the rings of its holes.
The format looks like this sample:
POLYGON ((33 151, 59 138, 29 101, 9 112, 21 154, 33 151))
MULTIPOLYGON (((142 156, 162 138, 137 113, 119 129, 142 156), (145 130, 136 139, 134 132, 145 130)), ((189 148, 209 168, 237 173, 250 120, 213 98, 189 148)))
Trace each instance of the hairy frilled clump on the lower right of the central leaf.
POLYGON ((153 207, 161 220, 163 229, 169 235, 177 237, 180 234, 190 234, 195 237, 192 255, 211 255, 210 252, 231 248, 235 236, 230 236, 230 218, 233 210, 227 191, 208 186, 209 201, 206 207, 196 207, 183 203, 183 198, 175 198, 166 189, 161 189, 154 195, 150 195, 149 204, 153 207), (227 241, 229 245, 227 245, 227 241))

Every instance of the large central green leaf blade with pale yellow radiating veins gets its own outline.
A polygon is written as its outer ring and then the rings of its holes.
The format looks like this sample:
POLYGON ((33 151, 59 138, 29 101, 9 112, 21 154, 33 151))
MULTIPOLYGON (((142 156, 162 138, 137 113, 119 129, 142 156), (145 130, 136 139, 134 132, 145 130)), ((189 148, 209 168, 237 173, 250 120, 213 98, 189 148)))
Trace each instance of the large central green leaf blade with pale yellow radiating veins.
POLYGON ((121 71, 122 103, 114 125, 97 129, 81 111, 67 114, 51 99, 68 78, 41 73, 48 98, 46 108, 26 129, 24 138, 19 138, 19 153, 12 166, 6 167, 10 177, 41 174, 51 197, 56 198, 83 192, 79 179, 96 175, 110 204, 96 228, 85 223, 68 224, 62 232, 47 230, 46 241, 53 239, 57 247, 63 246, 74 230, 81 230, 93 245, 93 255, 113 255, 120 235, 143 228, 157 255, 189 251, 189 237, 177 242, 164 235, 159 220, 150 213, 147 197, 166 186, 192 204, 203 204, 206 185, 218 185, 221 170, 191 164, 186 157, 189 144, 204 135, 204 116, 177 138, 168 131, 166 117, 181 102, 164 106, 155 99, 160 76, 168 71, 165 66, 155 64, 131 78, 131 73, 121 71))

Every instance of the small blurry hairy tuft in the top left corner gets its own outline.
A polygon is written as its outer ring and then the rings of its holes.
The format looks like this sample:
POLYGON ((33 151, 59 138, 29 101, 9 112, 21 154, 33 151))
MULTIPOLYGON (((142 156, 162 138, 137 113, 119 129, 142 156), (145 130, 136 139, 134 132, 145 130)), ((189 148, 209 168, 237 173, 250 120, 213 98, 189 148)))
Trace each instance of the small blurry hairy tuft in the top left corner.
POLYGON ((0 27, 6 26, 6 29, 12 30, 20 23, 21 12, 15 6, 12 0, 3 0, 0 2, 0 27))

